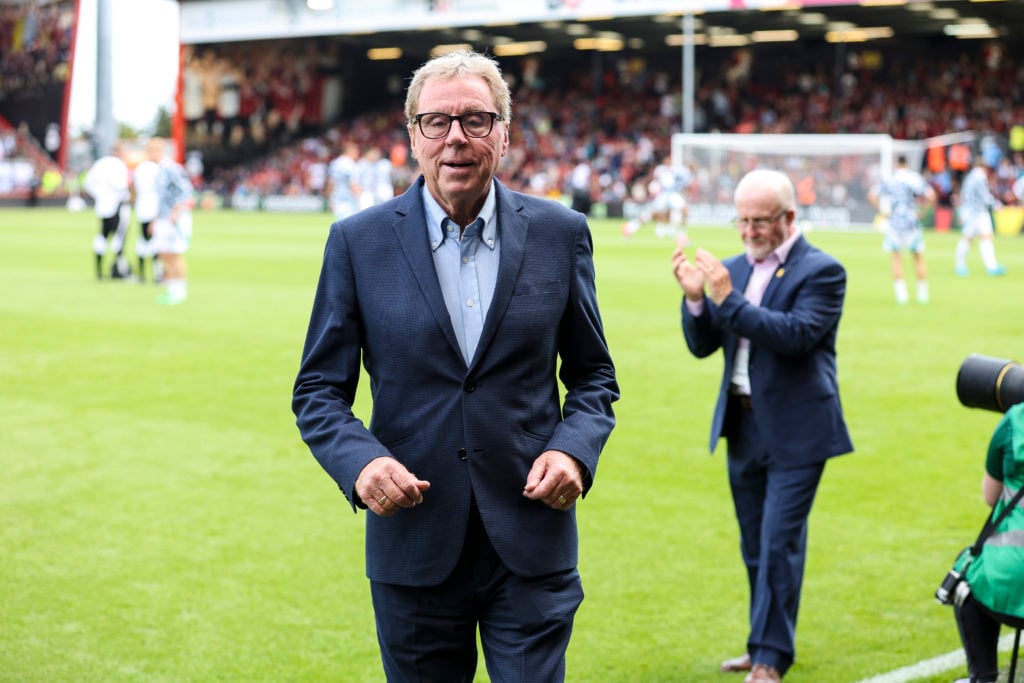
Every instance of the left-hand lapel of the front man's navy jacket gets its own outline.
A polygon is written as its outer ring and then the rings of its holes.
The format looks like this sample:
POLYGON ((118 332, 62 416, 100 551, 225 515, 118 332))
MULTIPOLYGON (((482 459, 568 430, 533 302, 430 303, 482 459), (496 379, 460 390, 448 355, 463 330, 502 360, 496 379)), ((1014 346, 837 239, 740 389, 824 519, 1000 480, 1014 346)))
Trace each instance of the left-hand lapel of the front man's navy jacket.
POLYGON ((398 198, 398 206, 395 208, 398 215, 391 227, 394 230, 395 241, 401 247, 406 260, 409 261, 413 276, 423 292, 423 298, 437 319, 437 325, 444 332, 444 338, 461 358, 459 339, 455 335, 455 328, 452 327, 452 315, 444 304, 444 295, 441 293, 437 270, 434 267, 434 257, 430 252, 426 228, 427 217, 420 196, 422 190, 423 176, 420 176, 420 179, 398 198))

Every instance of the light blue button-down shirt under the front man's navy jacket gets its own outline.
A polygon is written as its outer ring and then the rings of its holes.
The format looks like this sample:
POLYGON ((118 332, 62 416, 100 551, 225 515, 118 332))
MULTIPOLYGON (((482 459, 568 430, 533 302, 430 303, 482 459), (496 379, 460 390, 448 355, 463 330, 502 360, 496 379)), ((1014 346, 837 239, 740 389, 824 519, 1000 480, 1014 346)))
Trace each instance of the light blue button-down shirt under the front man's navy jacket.
POLYGON ((495 295, 495 283, 498 282, 501 250, 494 182, 479 216, 466 227, 461 238, 459 224, 447 217, 425 186, 423 207, 427 214, 427 237, 437 281, 452 316, 459 349, 468 366, 476 353, 483 321, 495 295))

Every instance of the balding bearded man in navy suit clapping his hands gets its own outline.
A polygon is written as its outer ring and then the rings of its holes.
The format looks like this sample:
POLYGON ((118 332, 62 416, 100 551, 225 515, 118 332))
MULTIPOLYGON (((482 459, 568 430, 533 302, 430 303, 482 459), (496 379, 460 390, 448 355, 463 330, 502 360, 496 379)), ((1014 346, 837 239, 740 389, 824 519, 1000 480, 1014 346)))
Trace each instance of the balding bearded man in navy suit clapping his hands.
POLYGON ((725 359, 710 445, 728 442, 751 630, 722 670, 750 672, 745 683, 793 665, 811 504, 825 461, 853 451, 836 368, 846 271, 801 233, 795 195, 783 173, 751 171, 734 194, 745 254, 691 261, 680 248, 672 261, 687 346, 725 359))

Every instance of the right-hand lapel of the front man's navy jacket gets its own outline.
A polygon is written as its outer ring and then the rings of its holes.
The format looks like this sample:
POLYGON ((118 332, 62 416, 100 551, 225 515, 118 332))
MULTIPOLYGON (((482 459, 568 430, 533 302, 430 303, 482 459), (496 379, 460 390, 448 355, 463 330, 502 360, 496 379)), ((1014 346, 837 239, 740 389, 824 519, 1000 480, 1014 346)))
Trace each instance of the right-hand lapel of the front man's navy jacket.
POLYGON ((469 364, 470 369, 479 362, 484 350, 490 345, 498 326, 505 316, 512 291, 519 280, 519 267, 526 248, 526 232, 529 219, 522 213, 522 203, 503 184, 495 180, 495 191, 498 193, 498 241, 501 245, 501 256, 498 263, 498 280, 495 283, 495 294, 490 299, 487 316, 483 321, 480 340, 476 344, 476 353, 469 364))

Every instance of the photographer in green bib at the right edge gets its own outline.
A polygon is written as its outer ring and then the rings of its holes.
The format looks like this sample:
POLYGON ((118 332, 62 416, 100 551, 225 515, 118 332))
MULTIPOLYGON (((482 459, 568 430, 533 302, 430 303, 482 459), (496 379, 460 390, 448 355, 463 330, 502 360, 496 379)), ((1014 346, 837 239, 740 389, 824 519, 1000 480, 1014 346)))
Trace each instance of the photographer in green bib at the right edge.
POLYGON ((1024 620, 1024 502, 1015 500, 1022 486, 1024 402, 1011 407, 995 427, 982 479, 990 520, 1014 507, 985 539, 982 552, 965 551, 954 566, 965 580, 955 589, 953 611, 970 674, 956 683, 995 683, 999 628, 1006 616, 1024 620))

